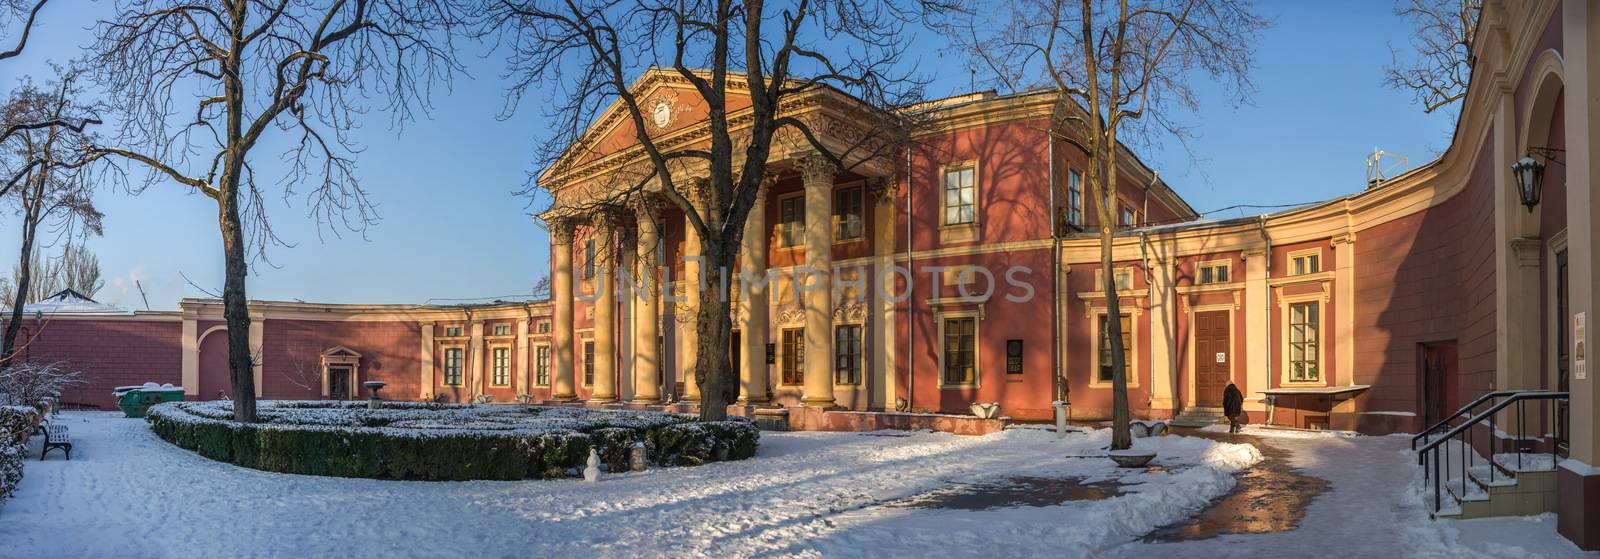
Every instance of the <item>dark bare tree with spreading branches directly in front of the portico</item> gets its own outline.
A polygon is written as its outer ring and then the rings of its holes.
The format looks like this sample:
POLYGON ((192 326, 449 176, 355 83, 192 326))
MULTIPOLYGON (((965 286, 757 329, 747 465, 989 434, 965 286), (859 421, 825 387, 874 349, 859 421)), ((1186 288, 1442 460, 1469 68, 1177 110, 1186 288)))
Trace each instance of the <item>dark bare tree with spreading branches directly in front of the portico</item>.
MULTIPOLYGON (((626 207, 629 197, 637 199, 650 186, 685 213, 699 235, 702 269, 714 274, 733 269, 774 143, 792 138, 810 144, 837 170, 894 149, 904 122, 890 112, 862 114, 869 127, 878 125, 875 133, 840 149, 824 146, 819 130, 782 107, 827 88, 848 91, 877 109, 920 98, 922 83, 899 64, 906 43, 901 30, 931 10, 939 6, 858 0, 506 0, 485 6, 475 21, 482 35, 498 37, 510 50, 509 111, 531 91, 554 91, 557 119, 541 138, 541 163, 557 163, 602 111, 619 106, 646 163, 616 184, 613 195, 595 202, 626 207), (706 141, 669 146, 651 136, 643 91, 630 88, 648 67, 667 67, 693 85, 709 107, 706 141), (749 109, 736 109, 746 95, 749 109), (694 179, 686 168, 694 168, 694 179)), ((725 348, 733 324, 717 282, 702 280, 699 292, 693 381, 701 388, 701 418, 720 420, 738 397, 725 348)))

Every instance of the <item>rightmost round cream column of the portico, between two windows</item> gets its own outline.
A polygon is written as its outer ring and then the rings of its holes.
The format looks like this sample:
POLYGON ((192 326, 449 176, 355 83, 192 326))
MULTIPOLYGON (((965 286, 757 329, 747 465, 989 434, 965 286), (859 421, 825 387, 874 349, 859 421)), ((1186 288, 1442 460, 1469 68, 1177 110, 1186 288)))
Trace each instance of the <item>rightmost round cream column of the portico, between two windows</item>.
POLYGON ((800 162, 805 181, 805 405, 834 407, 834 175, 822 157, 800 162))

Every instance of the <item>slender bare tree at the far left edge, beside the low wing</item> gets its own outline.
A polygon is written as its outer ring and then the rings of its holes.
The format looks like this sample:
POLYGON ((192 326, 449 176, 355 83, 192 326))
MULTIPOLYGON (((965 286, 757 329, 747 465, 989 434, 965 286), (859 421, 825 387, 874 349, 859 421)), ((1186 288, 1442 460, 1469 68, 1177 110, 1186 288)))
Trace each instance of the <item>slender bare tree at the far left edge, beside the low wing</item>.
MULTIPOLYGON (((78 77, 77 70, 66 70, 61 78, 45 86, 24 80, 6 99, 3 122, 50 122, 94 114, 96 107, 78 101, 83 96, 78 77)), ((0 152, 0 162, 6 168, 19 168, 26 176, 8 195, 22 218, 19 224, 22 239, 13 277, 16 292, 11 296, 11 317, 0 341, 0 368, 14 357, 16 336, 22 328, 22 306, 43 295, 34 292, 34 287, 46 279, 35 280, 34 272, 51 264, 38 263, 35 258, 38 248, 48 247, 51 240, 40 242, 40 226, 48 227, 45 232, 54 232, 58 239, 101 234, 101 211, 94 208, 93 186, 83 171, 91 157, 88 152, 91 143, 93 136, 69 127, 27 128, 13 136, 10 151, 0 152)))

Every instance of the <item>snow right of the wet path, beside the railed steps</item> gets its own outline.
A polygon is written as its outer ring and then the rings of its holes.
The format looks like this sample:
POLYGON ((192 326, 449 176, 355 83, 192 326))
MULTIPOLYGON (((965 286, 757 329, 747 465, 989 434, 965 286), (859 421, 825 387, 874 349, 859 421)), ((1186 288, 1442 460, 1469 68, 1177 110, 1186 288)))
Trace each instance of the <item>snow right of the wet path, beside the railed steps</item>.
MULTIPOLYGON (((1226 426, 1222 428, 1226 431, 1226 426)), ((1306 509, 1299 529, 1277 533, 1222 535, 1200 541, 1134 543, 1115 557, 1578 557, 1555 533, 1555 517, 1430 521, 1422 471, 1410 436, 1363 437, 1245 428, 1266 444, 1291 452, 1291 464, 1330 481, 1306 509)))

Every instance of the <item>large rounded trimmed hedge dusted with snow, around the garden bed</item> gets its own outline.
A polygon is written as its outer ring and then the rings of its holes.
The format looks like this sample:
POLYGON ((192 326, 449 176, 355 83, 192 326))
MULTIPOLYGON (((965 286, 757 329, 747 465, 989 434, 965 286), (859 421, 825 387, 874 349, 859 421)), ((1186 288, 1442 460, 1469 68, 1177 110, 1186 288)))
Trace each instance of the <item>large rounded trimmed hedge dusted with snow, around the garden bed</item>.
POLYGON ((262 402, 261 423, 237 423, 211 402, 168 402, 146 420, 162 439, 237 466, 373 479, 550 479, 584 468, 594 447, 611 471, 627 469, 634 442, 659 466, 755 455, 747 420, 698 423, 653 412, 565 407, 470 407, 386 402, 262 402))

